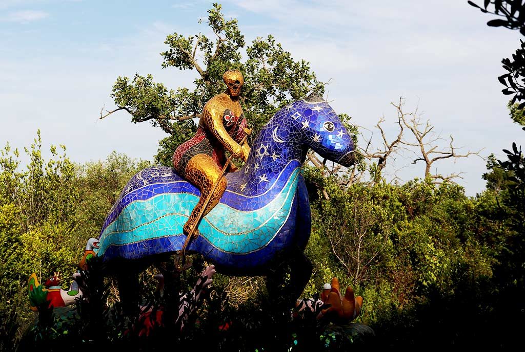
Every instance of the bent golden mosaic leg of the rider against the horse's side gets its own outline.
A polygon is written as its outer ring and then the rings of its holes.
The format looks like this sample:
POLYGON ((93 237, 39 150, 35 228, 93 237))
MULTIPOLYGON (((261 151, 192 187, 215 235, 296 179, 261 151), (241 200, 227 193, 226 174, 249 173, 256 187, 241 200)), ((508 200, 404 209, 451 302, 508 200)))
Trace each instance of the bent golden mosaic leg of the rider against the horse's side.
MULTIPOLYGON (((199 190, 201 190, 201 198, 198 200, 197 205, 195 205, 195 208, 193 208, 190 218, 188 218, 188 221, 184 225, 185 235, 188 235, 192 226, 194 226, 194 224, 200 220, 198 215, 201 212, 207 197, 212 192, 213 186, 219 179, 221 171, 222 170, 219 169, 217 163, 212 159, 212 157, 205 154, 198 154, 188 161, 184 175, 188 181, 193 183, 199 190)), ((208 214, 215 207, 215 205, 217 205, 220 197, 222 197, 224 191, 226 190, 226 184, 226 178, 221 177, 202 216, 208 214)), ((195 232, 194 237, 197 235, 198 233, 195 232)))

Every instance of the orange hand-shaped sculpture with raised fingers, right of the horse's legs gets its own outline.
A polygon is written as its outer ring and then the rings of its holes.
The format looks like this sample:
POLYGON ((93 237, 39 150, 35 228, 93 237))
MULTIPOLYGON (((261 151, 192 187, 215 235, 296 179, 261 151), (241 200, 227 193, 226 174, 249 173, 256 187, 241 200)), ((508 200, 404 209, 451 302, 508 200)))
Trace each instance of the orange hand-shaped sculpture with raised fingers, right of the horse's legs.
POLYGON ((337 278, 332 279, 331 289, 323 290, 321 301, 332 305, 324 315, 332 321, 343 323, 349 323, 358 317, 363 305, 363 298, 354 297, 354 290, 350 286, 346 288, 344 297, 341 296, 337 278))

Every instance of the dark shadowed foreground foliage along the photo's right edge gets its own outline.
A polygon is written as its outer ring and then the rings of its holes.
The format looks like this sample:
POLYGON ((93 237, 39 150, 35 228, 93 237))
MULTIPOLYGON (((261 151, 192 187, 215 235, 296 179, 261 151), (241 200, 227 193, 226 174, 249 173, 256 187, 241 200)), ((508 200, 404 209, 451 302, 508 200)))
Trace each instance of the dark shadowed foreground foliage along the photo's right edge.
MULTIPOLYGON (((485 0, 484 6, 478 6, 469 1, 470 5, 481 9, 481 12, 502 17, 488 21, 493 27, 519 29, 525 36, 525 2, 522 0, 485 0)), ((523 108, 525 102, 519 105, 516 101, 525 100, 525 42, 512 55, 512 60, 502 60, 503 69, 508 73, 498 77, 505 85, 502 93, 513 95, 509 102, 509 112, 512 120, 523 126, 523 108)), ((525 130, 525 127, 522 129, 525 130)), ((485 174, 488 185, 497 185, 498 209, 495 215, 502 218, 506 224, 507 233, 502 241, 502 250, 496 256, 498 265, 495 267, 493 283, 497 293, 493 315, 495 320, 508 322, 523 322, 525 305, 525 158, 521 147, 512 143, 512 150, 503 149, 507 160, 498 160, 489 165, 492 172, 485 174)), ((492 158, 495 159, 495 158, 492 158)), ((517 323, 506 328, 506 335, 512 342, 522 331, 523 324, 517 323)), ((505 336, 503 336, 505 339, 505 336)))

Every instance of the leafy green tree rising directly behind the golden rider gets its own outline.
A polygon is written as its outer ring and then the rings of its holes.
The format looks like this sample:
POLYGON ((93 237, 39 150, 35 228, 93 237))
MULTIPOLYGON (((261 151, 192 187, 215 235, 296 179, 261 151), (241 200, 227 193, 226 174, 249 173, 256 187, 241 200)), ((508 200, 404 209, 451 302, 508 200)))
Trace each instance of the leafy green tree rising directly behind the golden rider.
POLYGON ((161 53, 163 68, 197 71, 195 89, 168 90, 164 84, 155 83, 152 75, 135 74, 132 80, 119 76, 111 94, 117 108, 100 114, 104 118, 124 110, 132 122, 150 121, 170 134, 160 142, 156 156, 159 163, 171 165, 175 148, 193 136, 193 119, 200 116, 211 97, 224 91, 222 74, 227 70, 238 69, 244 75, 240 103, 254 129, 252 136, 280 107, 303 98, 309 91, 324 92, 324 84, 311 72, 308 62, 294 60, 273 36, 257 38, 246 46, 237 20, 225 19, 217 3, 208 10, 207 24, 214 38, 202 33, 188 37, 174 33, 166 37, 168 48, 161 53))

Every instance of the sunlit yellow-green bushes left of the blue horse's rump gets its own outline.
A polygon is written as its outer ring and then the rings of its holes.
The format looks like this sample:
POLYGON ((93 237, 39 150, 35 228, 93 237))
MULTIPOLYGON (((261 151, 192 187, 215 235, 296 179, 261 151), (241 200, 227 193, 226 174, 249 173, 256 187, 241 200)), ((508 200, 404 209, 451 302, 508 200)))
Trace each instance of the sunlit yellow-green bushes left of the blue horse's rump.
POLYGON ((14 337, 34 318, 27 296, 31 272, 42 282, 60 271, 62 284, 68 285, 87 239, 98 236, 120 190, 149 166, 117 153, 104 162, 75 166, 64 146, 51 146, 51 158, 45 160, 39 131, 25 151, 25 168, 9 144, 0 155, 0 181, 5 185, 0 188, 0 246, 8 249, 0 260, 0 313, 6 323, 16 317, 15 332, 19 330, 14 337))

